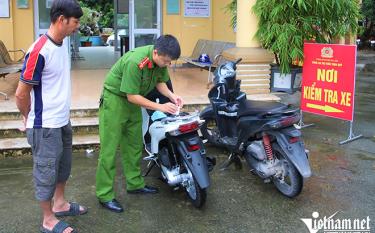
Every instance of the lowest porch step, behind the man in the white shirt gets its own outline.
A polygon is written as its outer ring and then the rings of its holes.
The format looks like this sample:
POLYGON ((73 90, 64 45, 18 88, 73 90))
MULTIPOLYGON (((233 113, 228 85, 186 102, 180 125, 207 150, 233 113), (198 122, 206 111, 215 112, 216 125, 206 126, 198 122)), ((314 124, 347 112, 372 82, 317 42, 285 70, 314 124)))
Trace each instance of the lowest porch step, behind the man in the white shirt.
MULTIPOLYGON (((99 136, 97 134, 73 136, 74 151, 98 147, 99 136)), ((0 148, 0 159, 5 157, 31 155, 31 148, 27 143, 26 137, 0 139, 0 148)))

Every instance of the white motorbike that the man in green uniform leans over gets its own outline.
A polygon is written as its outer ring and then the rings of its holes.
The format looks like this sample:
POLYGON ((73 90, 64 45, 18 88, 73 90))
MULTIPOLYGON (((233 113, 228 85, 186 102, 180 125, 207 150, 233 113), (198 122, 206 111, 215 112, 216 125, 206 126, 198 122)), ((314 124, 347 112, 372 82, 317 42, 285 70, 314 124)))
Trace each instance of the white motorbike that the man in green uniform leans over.
POLYGON ((182 187, 192 202, 200 208, 207 197, 210 185, 209 167, 214 161, 207 160, 206 150, 198 135, 203 124, 198 114, 179 113, 166 116, 155 111, 150 117, 145 109, 143 115, 143 135, 149 161, 144 176, 155 165, 160 168, 163 180, 172 187, 182 187))

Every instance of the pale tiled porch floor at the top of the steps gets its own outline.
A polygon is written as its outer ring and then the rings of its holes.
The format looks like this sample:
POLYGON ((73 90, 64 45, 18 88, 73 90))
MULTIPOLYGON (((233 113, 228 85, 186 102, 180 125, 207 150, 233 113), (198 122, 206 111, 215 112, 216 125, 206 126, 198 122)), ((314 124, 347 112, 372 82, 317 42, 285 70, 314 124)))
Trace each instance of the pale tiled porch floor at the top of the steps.
MULTIPOLYGON (((120 57, 113 47, 81 47, 80 59, 72 60, 72 108, 96 108, 103 88, 103 81, 111 66, 120 57)), ((207 71, 196 68, 170 69, 175 92, 186 103, 207 103, 207 71)), ((16 111, 14 93, 19 74, 0 79, 0 91, 8 94, 5 101, 0 96, 0 111, 16 111)))

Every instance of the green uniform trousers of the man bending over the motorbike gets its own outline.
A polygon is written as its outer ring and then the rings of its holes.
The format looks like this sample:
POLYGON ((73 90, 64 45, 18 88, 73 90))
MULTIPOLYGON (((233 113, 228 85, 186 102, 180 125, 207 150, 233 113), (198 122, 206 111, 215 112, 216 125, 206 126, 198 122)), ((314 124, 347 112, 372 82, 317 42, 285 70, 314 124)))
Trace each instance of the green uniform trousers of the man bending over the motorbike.
POLYGON ((100 201, 115 198, 116 154, 120 145, 127 190, 143 188, 140 160, 142 156, 142 114, 138 105, 125 97, 103 91, 99 108, 100 154, 96 170, 96 196, 100 201))

